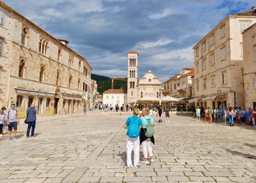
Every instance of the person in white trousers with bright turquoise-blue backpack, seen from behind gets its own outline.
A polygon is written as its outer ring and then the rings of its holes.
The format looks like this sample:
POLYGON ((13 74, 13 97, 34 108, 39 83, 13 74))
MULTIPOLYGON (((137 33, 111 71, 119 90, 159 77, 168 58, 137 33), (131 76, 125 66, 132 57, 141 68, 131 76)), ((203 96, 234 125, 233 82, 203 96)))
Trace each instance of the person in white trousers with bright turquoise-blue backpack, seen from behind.
POLYGON ((141 129, 141 119, 138 118, 140 109, 137 107, 133 108, 133 116, 129 117, 124 124, 124 129, 128 128, 126 133, 126 164, 127 168, 132 167, 132 149, 134 151, 133 155, 133 165, 134 167, 139 166, 140 160, 140 129, 141 129))

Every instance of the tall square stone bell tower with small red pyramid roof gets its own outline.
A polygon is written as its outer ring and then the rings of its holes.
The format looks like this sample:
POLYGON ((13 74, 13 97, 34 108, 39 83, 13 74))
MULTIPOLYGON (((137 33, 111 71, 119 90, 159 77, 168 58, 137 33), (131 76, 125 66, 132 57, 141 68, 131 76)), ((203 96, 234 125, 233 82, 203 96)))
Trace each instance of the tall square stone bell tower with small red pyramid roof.
POLYGON ((138 56, 139 53, 134 51, 128 53, 127 102, 138 99, 138 56))

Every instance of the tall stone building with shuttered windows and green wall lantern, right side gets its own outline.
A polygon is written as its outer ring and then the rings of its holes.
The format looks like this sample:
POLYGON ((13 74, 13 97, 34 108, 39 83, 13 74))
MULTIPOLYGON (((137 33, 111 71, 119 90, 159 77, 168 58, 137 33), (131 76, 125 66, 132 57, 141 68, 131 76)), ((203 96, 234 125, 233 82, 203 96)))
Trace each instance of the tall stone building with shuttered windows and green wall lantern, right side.
POLYGON ((193 47, 195 99, 191 101, 196 106, 244 106, 241 33, 256 22, 255 15, 255 7, 228 15, 193 47))

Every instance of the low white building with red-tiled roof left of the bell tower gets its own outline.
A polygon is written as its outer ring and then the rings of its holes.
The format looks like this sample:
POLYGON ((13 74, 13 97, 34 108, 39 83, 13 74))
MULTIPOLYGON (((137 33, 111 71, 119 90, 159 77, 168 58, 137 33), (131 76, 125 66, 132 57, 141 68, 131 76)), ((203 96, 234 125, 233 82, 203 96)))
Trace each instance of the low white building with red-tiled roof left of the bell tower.
POLYGON ((122 89, 109 89, 103 93, 103 104, 112 104, 115 106, 118 104, 121 106, 122 104, 127 103, 127 91, 122 89))

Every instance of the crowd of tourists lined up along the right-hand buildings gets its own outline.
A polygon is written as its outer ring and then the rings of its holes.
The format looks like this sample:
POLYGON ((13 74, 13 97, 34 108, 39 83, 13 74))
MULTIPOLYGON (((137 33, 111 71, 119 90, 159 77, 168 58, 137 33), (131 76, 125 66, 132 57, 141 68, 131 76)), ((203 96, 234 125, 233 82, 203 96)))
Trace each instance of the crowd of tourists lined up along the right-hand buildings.
POLYGON ((248 121, 248 125, 256 127, 256 107, 253 109, 248 108, 248 112, 246 112, 244 107, 215 107, 215 109, 207 107, 207 109, 203 111, 202 107, 200 108, 198 106, 196 108, 196 121, 200 121, 202 113, 205 115, 205 121, 209 123, 212 123, 212 121, 214 121, 214 123, 224 122, 225 125, 229 123, 230 126, 234 126, 236 124, 245 125, 245 122, 248 121))

